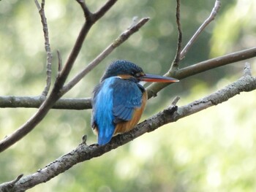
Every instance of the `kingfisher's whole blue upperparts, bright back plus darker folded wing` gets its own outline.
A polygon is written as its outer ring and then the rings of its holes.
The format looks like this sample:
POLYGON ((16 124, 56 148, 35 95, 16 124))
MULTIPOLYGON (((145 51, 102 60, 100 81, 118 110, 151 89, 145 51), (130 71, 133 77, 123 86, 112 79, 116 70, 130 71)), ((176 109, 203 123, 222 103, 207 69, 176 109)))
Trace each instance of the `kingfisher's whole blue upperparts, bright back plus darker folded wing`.
POLYGON ((99 145, 110 141, 117 123, 132 119, 135 108, 141 106, 143 91, 137 82, 119 77, 108 77, 94 89, 91 126, 97 128, 99 145))

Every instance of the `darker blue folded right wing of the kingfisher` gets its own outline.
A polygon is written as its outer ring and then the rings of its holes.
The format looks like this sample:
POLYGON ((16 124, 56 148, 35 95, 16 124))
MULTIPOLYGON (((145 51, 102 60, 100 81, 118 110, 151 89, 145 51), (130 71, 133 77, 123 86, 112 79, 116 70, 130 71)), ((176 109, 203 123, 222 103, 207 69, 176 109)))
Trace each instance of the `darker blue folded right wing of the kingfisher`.
POLYGON ((131 80, 116 79, 113 84, 114 123, 132 119, 135 108, 142 104, 143 87, 131 80))

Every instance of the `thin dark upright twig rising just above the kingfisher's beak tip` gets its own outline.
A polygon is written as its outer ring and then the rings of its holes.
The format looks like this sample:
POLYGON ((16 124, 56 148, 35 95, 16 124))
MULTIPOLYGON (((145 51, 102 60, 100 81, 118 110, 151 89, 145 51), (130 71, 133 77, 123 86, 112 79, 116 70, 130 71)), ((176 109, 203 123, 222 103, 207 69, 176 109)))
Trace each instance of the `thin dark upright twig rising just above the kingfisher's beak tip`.
POLYGON ((174 58, 173 64, 170 67, 170 70, 177 70, 178 69, 178 64, 181 61, 181 43, 182 43, 182 31, 181 31, 181 4, 180 0, 177 0, 177 5, 176 5, 176 23, 177 23, 177 28, 178 28, 178 42, 177 42, 177 50, 176 50, 176 56, 174 58))

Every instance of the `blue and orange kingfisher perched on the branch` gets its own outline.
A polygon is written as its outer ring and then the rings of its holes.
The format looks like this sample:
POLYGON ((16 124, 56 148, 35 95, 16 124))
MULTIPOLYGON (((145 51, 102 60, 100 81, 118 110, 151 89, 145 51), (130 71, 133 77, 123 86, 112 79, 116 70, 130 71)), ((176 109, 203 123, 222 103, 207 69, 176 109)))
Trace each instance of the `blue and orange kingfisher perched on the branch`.
POLYGON ((148 99, 140 82, 178 82, 172 77, 145 74, 131 61, 114 61, 105 70, 99 85, 94 88, 91 104, 91 128, 98 144, 106 145, 116 134, 134 128, 148 99))

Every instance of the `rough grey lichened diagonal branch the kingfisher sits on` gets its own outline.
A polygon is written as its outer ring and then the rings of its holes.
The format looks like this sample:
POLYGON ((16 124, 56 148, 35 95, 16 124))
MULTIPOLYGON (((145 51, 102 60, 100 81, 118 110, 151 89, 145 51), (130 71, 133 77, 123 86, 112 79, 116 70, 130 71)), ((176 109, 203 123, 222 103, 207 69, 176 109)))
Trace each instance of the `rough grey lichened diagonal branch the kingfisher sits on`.
MULTIPOLYGON (((162 112, 157 113, 157 115, 143 121, 132 131, 113 137, 108 145, 86 145, 83 142, 76 149, 72 150, 66 155, 61 156, 60 158, 56 159, 56 161, 53 161, 44 168, 39 169, 34 174, 22 177, 13 185, 12 191, 26 191, 39 183, 45 183, 53 177, 56 177, 58 174, 67 171, 67 169, 71 168, 75 164, 88 161, 91 158, 108 153, 110 150, 116 149, 117 147, 130 142, 146 132, 154 131, 167 123, 175 122, 188 115, 192 115, 201 110, 205 110, 208 107, 225 102, 243 91, 254 91, 255 89, 256 78, 250 75, 249 64, 246 64, 244 76, 236 82, 225 86, 225 88, 222 88, 221 90, 202 99, 198 99, 197 101, 193 101, 192 103, 178 107, 178 110, 176 106, 171 105, 162 112)), ((0 185, 0 191, 4 191, 5 189, 5 183, 0 185)))

